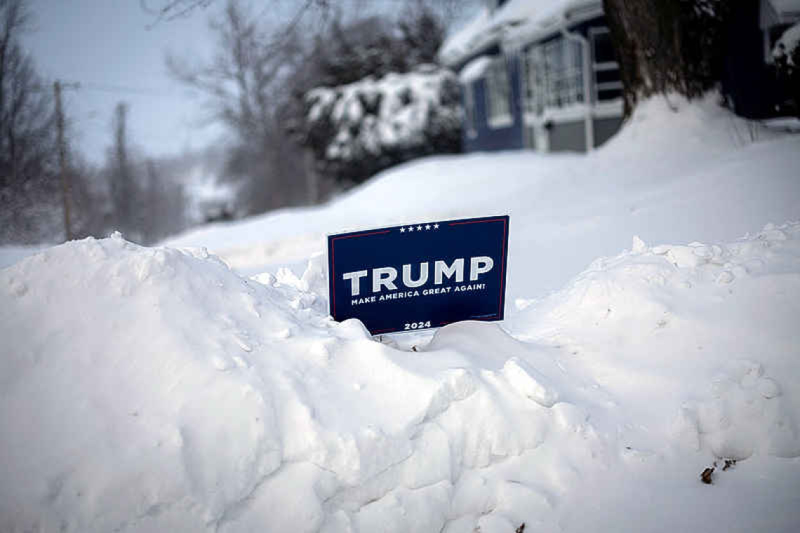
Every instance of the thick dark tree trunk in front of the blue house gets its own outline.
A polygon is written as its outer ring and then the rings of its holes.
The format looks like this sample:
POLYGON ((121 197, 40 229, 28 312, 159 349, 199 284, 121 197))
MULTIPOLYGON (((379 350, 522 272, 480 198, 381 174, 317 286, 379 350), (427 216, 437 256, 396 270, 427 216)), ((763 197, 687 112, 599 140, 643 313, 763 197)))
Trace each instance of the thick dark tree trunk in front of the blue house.
POLYGON ((603 0, 622 76, 625 115, 656 93, 699 97, 722 78, 736 2, 603 0))

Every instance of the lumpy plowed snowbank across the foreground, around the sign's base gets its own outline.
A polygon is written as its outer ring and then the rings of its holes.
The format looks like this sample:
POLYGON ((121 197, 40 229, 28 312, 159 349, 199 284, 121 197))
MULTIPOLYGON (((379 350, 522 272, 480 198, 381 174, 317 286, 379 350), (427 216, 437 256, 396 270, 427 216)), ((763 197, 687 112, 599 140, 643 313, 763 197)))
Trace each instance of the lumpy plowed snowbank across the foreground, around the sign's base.
POLYGON ((642 531, 800 524, 800 224, 636 239, 520 301, 517 338, 416 352, 330 321, 318 260, 258 279, 120 237, 0 271, 0 529, 619 531, 574 512, 603 480, 604 509, 663 500, 642 531))

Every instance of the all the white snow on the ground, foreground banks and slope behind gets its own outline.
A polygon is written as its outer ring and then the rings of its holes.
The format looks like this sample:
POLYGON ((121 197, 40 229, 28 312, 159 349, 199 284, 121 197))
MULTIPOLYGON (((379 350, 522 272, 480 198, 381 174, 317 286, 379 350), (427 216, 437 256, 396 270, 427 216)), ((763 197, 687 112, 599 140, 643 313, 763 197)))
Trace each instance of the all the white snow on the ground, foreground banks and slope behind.
POLYGON ((0 531, 798 531, 798 169, 800 137, 655 100, 589 156, 19 261, 0 531), (496 213, 506 322, 326 316, 326 232, 496 213))

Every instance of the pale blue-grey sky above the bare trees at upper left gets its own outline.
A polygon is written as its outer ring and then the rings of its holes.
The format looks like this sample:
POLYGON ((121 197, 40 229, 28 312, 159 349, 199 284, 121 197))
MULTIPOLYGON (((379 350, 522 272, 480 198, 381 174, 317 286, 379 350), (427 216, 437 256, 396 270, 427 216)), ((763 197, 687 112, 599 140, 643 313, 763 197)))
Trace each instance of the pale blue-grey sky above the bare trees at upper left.
MULTIPOLYGON (((268 3, 262 16, 288 19, 305 0, 255 0, 268 3)), ((158 6, 163 0, 148 0, 158 6)), ((111 144, 111 116, 118 101, 130 105, 130 138, 147 155, 180 153, 224 141, 219 125, 202 125, 207 115, 202 95, 174 82, 166 72, 166 51, 181 58, 209 58, 214 37, 210 17, 224 0, 190 16, 154 22, 140 0, 30 0, 34 31, 26 47, 47 81, 80 82, 65 93, 66 114, 75 148, 101 162, 111 144)), ((397 10, 403 0, 350 0, 350 8, 397 10)), ((465 0, 465 5, 474 4, 465 0)))

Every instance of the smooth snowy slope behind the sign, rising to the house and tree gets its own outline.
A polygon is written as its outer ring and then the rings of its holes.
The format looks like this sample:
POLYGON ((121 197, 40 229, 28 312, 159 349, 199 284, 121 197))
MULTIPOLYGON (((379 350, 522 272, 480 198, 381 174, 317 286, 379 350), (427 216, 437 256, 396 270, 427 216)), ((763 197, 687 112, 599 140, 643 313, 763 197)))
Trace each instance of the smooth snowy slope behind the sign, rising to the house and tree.
POLYGON ((595 153, 429 157, 319 208, 210 225, 166 241, 206 246, 238 272, 302 272, 326 233, 510 214, 510 298, 562 288, 595 258, 650 242, 731 240, 800 218, 800 137, 778 137, 713 101, 642 105, 595 153))

